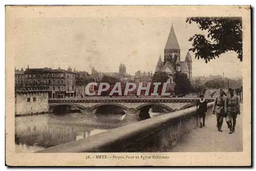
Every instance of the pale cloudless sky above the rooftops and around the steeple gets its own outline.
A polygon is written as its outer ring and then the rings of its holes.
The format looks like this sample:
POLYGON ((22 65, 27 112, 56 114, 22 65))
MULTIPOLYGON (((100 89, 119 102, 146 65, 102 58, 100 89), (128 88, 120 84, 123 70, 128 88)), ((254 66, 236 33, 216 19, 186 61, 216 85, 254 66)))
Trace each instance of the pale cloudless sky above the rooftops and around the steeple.
MULTIPOLYGON (((196 24, 185 17, 17 17, 12 36, 16 69, 75 68, 91 73, 92 67, 101 72, 118 72, 120 63, 126 72, 155 71, 159 55, 170 28, 174 27, 185 59, 191 42, 188 39, 202 33, 196 24)), ((193 76, 242 76, 242 62, 234 52, 227 52, 205 63, 192 56, 193 76)))

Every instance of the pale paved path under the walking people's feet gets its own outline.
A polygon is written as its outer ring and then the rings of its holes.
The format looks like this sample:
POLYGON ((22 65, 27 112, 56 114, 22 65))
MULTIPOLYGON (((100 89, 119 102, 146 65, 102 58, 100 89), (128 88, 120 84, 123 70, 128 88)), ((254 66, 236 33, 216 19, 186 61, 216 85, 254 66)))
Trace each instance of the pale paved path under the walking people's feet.
MULTIPOLYGON (((243 111, 242 109, 243 105, 241 104, 241 111, 243 111)), ((205 122, 206 127, 198 128, 186 135, 169 152, 242 152, 242 116, 243 114, 237 117, 236 132, 228 134, 229 129, 225 119, 222 125, 223 132, 218 132, 216 116, 208 115, 205 122)))

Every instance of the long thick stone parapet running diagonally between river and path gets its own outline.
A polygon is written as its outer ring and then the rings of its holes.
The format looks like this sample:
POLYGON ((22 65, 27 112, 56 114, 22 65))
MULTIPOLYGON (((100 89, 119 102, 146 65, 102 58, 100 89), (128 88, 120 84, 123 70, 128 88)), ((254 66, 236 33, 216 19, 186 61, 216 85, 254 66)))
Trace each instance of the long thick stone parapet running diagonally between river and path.
MULTIPOLYGON (((212 114, 212 105, 213 102, 208 103, 206 115, 212 114)), ((197 110, 193 107, 121 126, 37 153, 166 152, 198 125, 197 110)))

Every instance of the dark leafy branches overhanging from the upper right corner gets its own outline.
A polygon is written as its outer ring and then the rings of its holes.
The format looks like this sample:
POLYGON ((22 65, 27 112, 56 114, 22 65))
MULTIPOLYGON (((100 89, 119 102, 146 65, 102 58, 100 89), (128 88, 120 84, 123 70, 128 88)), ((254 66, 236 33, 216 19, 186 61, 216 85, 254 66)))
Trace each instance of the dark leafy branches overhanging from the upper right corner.
POLYGON ((195 22, 202 31, 207 31, 207 40, 203 34, 195 34, 189 38, 193 41, 196 58, 202 58, 207 63, 228 51, 238 54, 240 61, 242 54, 242 17, 188 17, 186 23, 195 22))

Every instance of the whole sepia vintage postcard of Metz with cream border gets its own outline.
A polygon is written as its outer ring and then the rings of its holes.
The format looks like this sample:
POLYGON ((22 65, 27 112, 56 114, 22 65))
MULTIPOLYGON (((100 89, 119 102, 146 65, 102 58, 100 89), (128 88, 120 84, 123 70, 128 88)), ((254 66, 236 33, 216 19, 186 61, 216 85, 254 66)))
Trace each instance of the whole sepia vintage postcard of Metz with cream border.
POLYGON ((250 6, 6 6, 9 166, 250 166, 250 6))

